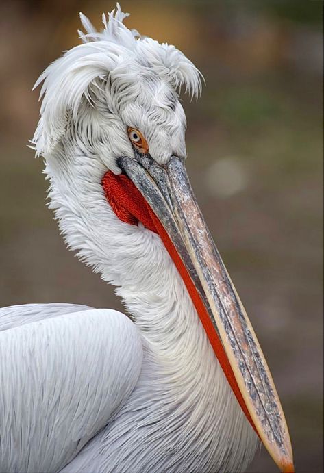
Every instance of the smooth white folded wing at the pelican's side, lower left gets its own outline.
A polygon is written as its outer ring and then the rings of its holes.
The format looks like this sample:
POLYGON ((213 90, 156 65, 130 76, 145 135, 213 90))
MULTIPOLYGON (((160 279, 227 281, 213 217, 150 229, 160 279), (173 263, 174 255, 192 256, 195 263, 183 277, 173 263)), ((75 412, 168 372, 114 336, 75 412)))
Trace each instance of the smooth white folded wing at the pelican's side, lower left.
POLYGON ((108 424, 134 389, 142 342, 109 309, 0 332, 0 471, 55 472, 108 424))

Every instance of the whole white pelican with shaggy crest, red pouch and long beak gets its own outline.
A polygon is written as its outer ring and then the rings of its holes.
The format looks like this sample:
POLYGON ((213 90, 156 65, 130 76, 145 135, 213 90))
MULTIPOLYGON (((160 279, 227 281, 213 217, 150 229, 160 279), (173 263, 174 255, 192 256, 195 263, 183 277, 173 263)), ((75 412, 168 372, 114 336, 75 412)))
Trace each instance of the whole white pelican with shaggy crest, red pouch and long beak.
MULTIPOLYGON (((293 472, 284 413, 190 187, 174 46, 80 14, 42 83, 32 146, 68 247, 130 317, 73 304, 0 311, 0 471, 245 471, 260 442, 293 472)), ((26 192, 27 193, 27 192, 26 192)))

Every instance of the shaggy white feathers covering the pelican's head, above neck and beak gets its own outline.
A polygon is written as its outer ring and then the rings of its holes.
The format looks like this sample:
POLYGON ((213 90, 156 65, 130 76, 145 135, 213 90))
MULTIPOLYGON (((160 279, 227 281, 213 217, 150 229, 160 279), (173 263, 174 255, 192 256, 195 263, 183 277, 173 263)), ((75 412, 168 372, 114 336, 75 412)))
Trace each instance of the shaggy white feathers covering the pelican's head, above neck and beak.
MULTIPOLYGON (((79 120, 88 114, 89 144, 99 155, 132 153, 127 126, 142 131, 154 159, 185 155, 186 120, 177 94, 184 86, 197 97, 200 73, 174 46, 127 29, 127 16, 117 3, 109 21, 103 15, 105 28, 97 32, 80 14, 86 29, 86 34, 79 31, 83 44, 66 51, 36 81, 34 88, 43 82, 40 121, 32 140, 37 155, 46 157, 73 121, 80 126, 79 120), (116 128, 118 139, 110 133, 112 129, 116 137, 116 128)), ((114 162, 110 164, 118 172, 114 162)))

